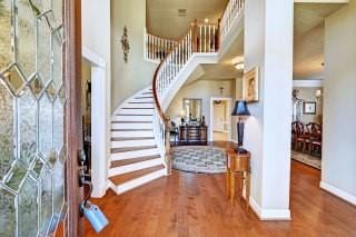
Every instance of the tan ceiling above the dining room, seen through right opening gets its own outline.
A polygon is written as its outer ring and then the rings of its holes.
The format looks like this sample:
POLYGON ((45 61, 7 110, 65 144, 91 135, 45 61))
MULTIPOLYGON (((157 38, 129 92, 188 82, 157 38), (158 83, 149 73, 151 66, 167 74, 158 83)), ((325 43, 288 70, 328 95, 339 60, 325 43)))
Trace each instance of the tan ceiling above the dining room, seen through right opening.
POLYGON ((323 78, 325 18, 339 3, 295 3, 294 78, 323 78))

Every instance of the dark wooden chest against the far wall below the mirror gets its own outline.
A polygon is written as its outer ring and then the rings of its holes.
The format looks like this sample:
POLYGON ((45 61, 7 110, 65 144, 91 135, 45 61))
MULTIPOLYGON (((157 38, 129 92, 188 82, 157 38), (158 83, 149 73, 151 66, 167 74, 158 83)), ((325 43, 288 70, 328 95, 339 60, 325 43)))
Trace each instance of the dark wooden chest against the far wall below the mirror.
POLYGON ((179 144, 195 145, 207 144, 208 127, 207 126, 179 126, 179 144))

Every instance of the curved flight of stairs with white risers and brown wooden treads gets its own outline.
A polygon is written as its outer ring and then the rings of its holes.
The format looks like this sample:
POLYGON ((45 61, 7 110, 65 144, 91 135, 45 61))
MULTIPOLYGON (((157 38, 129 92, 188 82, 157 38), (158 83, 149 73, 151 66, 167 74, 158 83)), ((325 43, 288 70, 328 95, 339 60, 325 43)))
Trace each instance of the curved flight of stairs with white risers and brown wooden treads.
POLYGON ((166 175, 167 169, 155 139, 151 89, 123 102, 111 118, 109 187, 116 194, 166 175))

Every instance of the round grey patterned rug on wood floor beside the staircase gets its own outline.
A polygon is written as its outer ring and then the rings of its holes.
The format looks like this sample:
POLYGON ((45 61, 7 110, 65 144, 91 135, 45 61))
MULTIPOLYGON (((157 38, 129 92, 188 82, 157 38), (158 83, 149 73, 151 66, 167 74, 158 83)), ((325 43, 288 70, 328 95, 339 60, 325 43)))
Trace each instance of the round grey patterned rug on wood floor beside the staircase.
POLYGON ((175 147, 172 168, 188 172, 226 172, 226 151, 217 147, 175 147))

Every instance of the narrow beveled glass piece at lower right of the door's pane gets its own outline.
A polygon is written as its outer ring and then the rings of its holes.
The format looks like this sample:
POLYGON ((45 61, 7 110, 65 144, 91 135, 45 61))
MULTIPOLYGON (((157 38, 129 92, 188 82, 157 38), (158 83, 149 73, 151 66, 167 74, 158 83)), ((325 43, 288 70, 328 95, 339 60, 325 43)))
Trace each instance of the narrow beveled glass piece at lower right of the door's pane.
POLYGON ((57 160, 53 166, 53 211, 59 214, 65 200, 65 166, 57 160))

